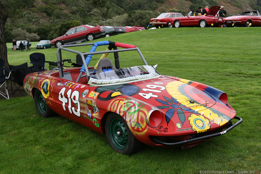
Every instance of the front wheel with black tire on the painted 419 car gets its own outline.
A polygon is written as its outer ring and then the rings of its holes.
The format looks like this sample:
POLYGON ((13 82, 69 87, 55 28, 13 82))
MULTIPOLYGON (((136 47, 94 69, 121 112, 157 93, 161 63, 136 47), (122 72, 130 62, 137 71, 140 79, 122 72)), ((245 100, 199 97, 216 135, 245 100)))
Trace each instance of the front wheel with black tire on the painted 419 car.
POLYGON ((129 155, 138 152, 142 147, 126 121, 116 113, 111 113, 106 118, 105 134, 109 145, 117 152, 129 155))

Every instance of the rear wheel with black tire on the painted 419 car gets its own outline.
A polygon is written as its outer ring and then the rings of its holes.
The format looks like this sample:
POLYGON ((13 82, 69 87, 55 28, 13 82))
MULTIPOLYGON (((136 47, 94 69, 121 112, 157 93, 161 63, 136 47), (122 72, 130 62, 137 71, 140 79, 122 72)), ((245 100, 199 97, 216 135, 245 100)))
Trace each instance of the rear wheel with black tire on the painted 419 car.
POLYGON ((46 104, 43 94, 36 89, 34 92, 34 104, 39 115, 48 118, 55 116, 55 112, 46 104))

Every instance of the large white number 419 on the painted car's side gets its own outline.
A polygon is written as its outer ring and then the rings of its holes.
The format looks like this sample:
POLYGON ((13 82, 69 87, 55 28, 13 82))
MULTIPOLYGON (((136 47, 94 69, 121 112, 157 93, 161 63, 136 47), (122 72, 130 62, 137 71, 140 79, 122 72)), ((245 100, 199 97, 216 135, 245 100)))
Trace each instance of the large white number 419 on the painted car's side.
POLYGON ((64 96, 64 92, 65 92, 66 87, 63 87, 61 89, 61 91, 59 92, 59 100, 63 103, 63 110, 66 111, 66 107, 65 104, 68 103, 68 110, 70 113, 73 113, 77 116, 80 117, 80 102, 79 102, 79 91, 73 91, 72 93, 72 89, 69 89, 66 93, 68 99, 64 96), (71 96, 72 93, 72 96, 71 96), (72 107, 72 101, 74 104, 77 105, 77 109, 75 109, 75 107, 72 107))

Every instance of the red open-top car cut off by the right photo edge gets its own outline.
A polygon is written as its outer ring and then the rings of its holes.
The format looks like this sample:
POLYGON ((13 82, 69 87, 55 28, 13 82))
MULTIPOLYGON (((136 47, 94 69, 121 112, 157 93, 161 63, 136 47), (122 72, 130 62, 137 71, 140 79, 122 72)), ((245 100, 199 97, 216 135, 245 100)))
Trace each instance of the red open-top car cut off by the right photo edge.
POLYGON ((261 15, 258 11, 243 11, 242 15, 229 16, 224 19, 227 26, 261 26, 261 15))

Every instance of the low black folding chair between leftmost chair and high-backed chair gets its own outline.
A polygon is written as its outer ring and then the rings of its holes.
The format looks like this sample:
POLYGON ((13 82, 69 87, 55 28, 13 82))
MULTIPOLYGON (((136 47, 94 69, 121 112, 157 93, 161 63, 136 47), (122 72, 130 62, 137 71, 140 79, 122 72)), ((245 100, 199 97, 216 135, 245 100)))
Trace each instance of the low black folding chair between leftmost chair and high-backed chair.
MULTIPOLYGON (((12 95, 14 95, 14 93, 17 90, 19 91, 20 87, 23 87, 23 79, 25 78, 25 76, 28 73, 33 73, 35 71, 34 71, 33 67, 27 66, 27 62, 23 63, 21 65, 9 65, 9 68, 10 68, 11 74, 13 76, 13 78, 10 80, 11 80, 11 92, 12 92, 12 95), (15 92, 13 92, 12 83, 16 88, 15 92)), ((21 91, 19 91, 19 92, 21 93, 21 91)))

